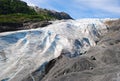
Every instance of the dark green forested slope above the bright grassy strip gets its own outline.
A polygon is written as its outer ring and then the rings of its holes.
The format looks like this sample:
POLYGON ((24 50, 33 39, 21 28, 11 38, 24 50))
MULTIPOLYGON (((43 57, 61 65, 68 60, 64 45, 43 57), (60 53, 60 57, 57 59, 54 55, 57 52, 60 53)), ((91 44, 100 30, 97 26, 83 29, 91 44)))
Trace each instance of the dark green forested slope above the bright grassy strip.
POLYGON ((31 9, 27 3, 20 0, 0 0, 0 14, 36 14, 34 9, 31 9))

